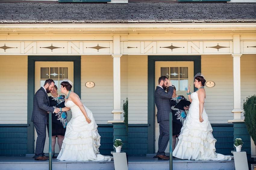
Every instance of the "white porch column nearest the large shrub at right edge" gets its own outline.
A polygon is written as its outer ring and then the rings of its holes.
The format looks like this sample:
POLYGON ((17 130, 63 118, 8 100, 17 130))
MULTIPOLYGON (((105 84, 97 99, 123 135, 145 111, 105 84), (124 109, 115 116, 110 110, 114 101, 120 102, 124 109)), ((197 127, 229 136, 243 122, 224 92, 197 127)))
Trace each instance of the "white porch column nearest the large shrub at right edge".
POLYGON ((240 65, 240 35, 233 35, 233 85, 234 85, 234 119, 228 122, 243 122, 241 119, 241 65, 240 65))

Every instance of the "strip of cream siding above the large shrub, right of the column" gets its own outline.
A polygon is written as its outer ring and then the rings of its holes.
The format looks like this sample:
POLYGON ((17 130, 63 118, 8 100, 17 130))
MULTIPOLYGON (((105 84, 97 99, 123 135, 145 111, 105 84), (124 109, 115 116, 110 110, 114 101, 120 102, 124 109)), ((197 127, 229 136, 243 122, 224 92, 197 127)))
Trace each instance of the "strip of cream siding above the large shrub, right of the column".
POLYGON ((241 108, 246 97, 252 95, 256 95, 256 55, 245 54, 241 56, 241 108))

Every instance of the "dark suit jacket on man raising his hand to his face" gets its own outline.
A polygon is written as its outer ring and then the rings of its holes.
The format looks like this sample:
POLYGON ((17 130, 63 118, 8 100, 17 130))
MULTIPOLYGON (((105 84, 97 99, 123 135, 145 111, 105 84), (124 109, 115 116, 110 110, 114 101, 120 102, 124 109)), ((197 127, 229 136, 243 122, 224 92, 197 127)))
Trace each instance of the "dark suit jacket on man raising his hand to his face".
POLYGON ((163 88, 157 86, 155 90, 155 104, 157 107, 157 122, 169 120, 171 112, 170 99, 173 96, 173 86, 169 86, 169 92, 165 92, 163 88))

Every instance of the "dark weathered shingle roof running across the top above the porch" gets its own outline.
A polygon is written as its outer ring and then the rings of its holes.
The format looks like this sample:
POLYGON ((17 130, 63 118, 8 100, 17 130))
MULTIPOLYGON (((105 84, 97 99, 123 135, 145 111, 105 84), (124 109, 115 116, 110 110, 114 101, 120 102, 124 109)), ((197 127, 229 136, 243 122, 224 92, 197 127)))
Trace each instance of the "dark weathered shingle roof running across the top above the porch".
POLYGON ((256 3, 0 2, 0 23, 255 23, 256 3))

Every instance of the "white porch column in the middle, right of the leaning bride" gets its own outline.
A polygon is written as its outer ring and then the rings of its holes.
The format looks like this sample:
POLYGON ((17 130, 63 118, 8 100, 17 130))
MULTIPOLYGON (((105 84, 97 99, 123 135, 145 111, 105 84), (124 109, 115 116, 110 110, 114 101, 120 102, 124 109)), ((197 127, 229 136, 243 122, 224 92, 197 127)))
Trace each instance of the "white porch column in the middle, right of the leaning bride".
POLYGON ((120 77, 120 58, 122 54, 120 54, 120 35, 113 35, 113 106, 114 110, 112 113, 114 114, 114 120, 108 121, 108 123, 119 123, 123 122, 121 120, 121 77, 120 77))

